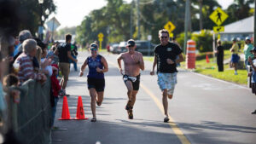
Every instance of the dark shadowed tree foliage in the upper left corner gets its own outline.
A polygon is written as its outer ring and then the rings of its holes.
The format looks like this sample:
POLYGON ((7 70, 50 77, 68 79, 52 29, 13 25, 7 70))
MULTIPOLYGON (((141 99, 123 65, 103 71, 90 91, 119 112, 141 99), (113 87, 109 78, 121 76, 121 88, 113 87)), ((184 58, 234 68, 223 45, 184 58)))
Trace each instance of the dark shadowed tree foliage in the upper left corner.
POLYGON ((11 31, 13 31, 12 35, 14 36, 17 36, 24 29, 29 30, 34 35, 38 32, 41 11, 45 20, 48 18, 48 15, 45 14, 46 9, 49 9, 49 14, 55 12, 53 0, 45 0, 42 9, 38 0, 2 0, 0 1, 0 7, 0 27, 9 26, 9 29, 13 29, 11 31))

